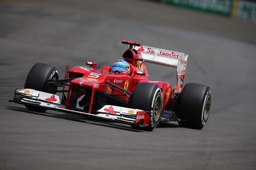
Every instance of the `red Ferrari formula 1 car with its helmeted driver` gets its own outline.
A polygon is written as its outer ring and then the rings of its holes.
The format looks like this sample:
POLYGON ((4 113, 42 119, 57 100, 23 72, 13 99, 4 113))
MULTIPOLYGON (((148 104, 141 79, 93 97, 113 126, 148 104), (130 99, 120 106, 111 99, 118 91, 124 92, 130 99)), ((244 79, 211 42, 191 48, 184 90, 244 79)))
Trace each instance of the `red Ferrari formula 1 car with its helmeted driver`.
POLYGON ((161 121, 202 129, 210 111, 211 90, 197 83, 187 83, 183 88, 188 55, 131 41, 122 43, 129 45, 123 60, 98 70, 96 63, 89 61, 88 67, 69 70, 66 66, 63 80, 59 80, 55 67, 35 64, 24 88, 16 89, 13 101, 33 111, 85 114, 147 131, 161 121), (176 86, 149 80, 145 62, 177 68, 176 86))

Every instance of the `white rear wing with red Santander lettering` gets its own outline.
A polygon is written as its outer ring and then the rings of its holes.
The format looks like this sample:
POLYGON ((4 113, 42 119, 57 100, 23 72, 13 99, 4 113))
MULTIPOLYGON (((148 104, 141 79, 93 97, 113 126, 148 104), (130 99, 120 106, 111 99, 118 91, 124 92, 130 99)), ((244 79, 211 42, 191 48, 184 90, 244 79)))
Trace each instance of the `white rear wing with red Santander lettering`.
POLYGON ((181 93, 188 54, 149 46, 134 46, 134 49, 140 51, 145 62, 177 68, 177 83, 173 90, 181 93))

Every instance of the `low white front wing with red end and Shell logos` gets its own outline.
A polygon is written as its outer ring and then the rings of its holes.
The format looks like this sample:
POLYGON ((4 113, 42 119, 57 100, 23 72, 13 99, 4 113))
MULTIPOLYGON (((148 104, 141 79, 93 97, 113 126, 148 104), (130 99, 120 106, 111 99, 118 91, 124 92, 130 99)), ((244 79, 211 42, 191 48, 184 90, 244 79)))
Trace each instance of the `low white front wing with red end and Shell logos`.
POLYGON ((61 105, 60 97, 51 93, 40 92, 33 89, 17 88, 13 102, 23 105, 33 105, 49 110, 58 110, 75 114, 84 114, 95 118, 107 119, 124 124, 134 124, 138 127, 147 127, 150 117, 149 111, 105 105, 97 114, 85 113, 83 110, 70 110, 61 105))

